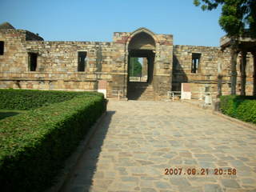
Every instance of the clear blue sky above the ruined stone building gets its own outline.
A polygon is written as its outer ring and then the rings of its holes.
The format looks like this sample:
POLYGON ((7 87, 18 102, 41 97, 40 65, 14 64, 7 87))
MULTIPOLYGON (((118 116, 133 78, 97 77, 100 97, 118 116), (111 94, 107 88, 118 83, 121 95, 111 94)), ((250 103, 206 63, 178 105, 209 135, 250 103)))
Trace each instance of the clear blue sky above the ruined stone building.
POLYGON ((45 41, 111 42, 114 32, 146 27, 173 34, 174 45, 219 46, 220 9, 193 0, 0 0, 0 23, 38 33, 45 41))

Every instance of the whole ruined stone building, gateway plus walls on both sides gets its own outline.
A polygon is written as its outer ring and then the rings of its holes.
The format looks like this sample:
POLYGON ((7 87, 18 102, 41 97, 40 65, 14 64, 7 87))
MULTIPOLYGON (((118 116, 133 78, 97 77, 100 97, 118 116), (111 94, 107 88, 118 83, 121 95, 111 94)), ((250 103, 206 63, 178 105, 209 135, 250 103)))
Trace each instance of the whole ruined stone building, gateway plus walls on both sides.
MULTIPOLYGON (((246 94, 253 94, 255 58, 248 53, 246 59, 246 94)), ((240 61, 238 57, 238 76, 240 61)), ((113 42, 47 42, 9 23, 0 26, 0 88, 106 89, 107 97, 119 91, 128 99, 158 99, 189 82, 192 94, 210 91, 216 96, 219 73, 222 94, 230 94, 229 49, 175 46, 171 34, 146 28, 115 32, 113 42), (129 73, 134 58, 142 59, 140 77, 129 73)))

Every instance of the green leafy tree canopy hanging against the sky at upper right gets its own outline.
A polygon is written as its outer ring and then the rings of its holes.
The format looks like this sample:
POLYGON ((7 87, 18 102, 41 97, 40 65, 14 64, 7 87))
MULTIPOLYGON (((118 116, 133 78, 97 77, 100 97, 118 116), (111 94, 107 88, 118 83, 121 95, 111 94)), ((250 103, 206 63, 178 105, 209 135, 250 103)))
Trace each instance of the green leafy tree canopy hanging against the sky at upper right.
POLYGON ((194 0, 202 10, 214 10, 222 6, 219 25, 230 37, 250 34, 256 38, 256 0, 194 0))

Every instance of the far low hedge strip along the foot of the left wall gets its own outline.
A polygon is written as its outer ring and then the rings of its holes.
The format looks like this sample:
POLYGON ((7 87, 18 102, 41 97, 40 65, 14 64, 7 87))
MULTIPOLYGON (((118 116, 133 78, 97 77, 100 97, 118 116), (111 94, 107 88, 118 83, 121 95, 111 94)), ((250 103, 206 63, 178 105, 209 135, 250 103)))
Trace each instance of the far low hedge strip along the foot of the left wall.
POLYGON ((48 106, 55 102, 64 102, 78 94, 93 95, 90 92, 71 92, 58 90, 1 90, 0 109, 29 110, 48 106))

